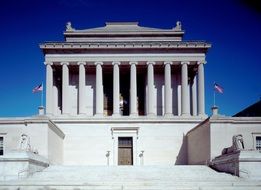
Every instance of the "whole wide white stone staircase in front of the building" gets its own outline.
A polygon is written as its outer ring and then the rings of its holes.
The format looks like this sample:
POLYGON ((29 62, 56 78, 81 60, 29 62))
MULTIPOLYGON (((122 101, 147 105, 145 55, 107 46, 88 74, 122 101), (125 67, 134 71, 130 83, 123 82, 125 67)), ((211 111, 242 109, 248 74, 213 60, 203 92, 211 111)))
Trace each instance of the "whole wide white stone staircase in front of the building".
POLYGON ((5 190, 261 190, 260 181, 207 166, 50 166, 31 177, 0 182, 5 190))

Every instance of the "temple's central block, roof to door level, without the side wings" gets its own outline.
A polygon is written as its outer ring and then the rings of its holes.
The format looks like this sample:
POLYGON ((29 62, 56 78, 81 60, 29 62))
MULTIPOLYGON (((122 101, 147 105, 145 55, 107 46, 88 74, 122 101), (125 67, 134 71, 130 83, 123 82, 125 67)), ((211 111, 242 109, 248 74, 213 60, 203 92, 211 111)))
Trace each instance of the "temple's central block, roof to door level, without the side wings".
POLYGON ((211 45, 183 35, 180 22, 172 29, 116 22, 86 30, 68 23, 65 42, 40 45, 46 115, 67 131, 65 163, 137 165, 140 154, 148 164, 186 163, 184 134, 206 118, 211 45), (90 144, 98 148, 87 150, 90 144))

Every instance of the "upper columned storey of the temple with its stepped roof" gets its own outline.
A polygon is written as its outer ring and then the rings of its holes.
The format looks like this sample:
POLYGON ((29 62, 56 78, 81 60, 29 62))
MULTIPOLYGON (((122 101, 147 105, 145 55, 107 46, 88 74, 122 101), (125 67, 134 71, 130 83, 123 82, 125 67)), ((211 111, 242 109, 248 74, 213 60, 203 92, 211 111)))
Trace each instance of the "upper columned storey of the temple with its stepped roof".
POLYGON ((67 29, 65 42, 41 44, 47 115, 205 116, 204 64, 211 45, 184 42, 183 34, 178 27, 106 23, 67 29))

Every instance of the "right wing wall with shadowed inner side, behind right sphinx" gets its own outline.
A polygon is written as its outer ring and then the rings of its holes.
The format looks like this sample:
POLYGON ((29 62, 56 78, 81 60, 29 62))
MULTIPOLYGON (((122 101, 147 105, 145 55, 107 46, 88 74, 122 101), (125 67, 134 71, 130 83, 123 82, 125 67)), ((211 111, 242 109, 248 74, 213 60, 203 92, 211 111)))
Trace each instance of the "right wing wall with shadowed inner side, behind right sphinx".
POLYGON ((243 135, 246 150, 255 150, 261 117, 210 117, 187 134, 188 164, 207 164, 232 146, 232 137, 238 134, 243 135))

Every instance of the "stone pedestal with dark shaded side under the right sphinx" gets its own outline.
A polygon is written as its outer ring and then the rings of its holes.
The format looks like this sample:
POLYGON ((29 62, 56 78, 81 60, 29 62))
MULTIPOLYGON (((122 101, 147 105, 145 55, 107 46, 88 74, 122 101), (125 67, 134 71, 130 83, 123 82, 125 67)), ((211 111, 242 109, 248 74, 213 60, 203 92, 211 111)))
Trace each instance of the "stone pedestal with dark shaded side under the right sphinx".
POLYGON ((220 172, 230 173, 242 178, 261 179, 261 152, 241 150, 214 158, 210 167, 220 172))

